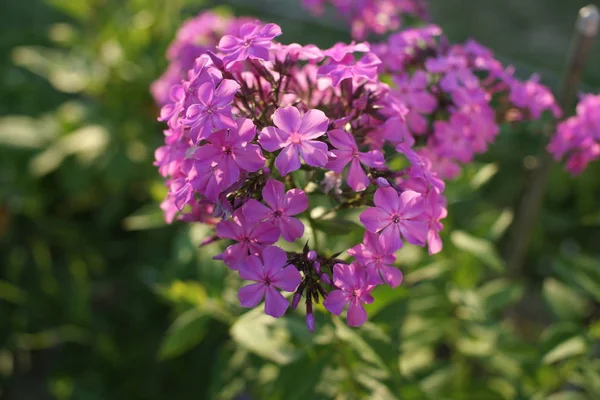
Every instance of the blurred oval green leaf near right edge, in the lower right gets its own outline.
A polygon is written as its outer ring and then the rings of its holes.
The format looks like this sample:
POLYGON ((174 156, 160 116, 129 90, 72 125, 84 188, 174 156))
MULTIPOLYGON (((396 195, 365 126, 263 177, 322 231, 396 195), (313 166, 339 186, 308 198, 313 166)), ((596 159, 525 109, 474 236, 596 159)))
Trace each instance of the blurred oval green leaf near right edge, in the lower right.
POLYGON ((591 311, 592 304, 588 299, 555 279, 544 281, 543 292, 546 302, 560 319, 581 319, 591 311))

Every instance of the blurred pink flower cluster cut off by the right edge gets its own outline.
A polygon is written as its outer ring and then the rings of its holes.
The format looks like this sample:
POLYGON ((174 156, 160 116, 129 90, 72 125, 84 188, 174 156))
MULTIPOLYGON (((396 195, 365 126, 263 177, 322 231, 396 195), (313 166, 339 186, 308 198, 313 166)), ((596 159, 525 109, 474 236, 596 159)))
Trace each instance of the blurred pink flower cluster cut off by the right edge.
POLYGON ((557 161, 566 158, 572 174, 600 158, 600 95, 581 96, 577 114, 558 125, 548 151, 557 161))

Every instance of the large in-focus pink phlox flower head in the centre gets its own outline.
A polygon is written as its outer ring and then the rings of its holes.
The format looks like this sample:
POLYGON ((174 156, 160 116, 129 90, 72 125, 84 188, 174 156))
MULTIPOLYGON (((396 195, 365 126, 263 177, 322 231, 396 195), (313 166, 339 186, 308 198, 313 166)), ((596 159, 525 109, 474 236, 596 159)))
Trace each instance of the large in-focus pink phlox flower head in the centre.
POLYGON ((321 300, 334 314, 347 304, 358 326, 372 289, 401 283, 393 264, 404 242, 441 250, 444 183, 413 148, 406 106, 379 80, 368 44, 323 50, 281 44, 281 34, 275 24, 243 24, 169 89, 155 162, 168 186, 162 208, 169 222, 179 214, 215 227, 209 240, 228 245, 215 258, 254 282, 240 290, 242 306, 264 299, 265 312, 281 317, 290 304, 279 291, 293 292, 309 329, 321 300), (392 169, 399 158, 407 167, 392 169), (364 240, 347 251, 354 261, 317 254, 310 242, 297 253, 278 246, 320 218, 309 214, 310 196, 363 208, 364 240))

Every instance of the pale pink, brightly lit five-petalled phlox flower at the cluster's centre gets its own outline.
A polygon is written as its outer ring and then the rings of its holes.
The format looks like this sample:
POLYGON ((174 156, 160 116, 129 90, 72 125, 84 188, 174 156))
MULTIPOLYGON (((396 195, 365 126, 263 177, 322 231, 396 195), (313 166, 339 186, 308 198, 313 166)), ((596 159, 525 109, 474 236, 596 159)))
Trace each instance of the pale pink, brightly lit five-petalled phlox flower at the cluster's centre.
POLYGON ((327 144, 317 139, 327 132, 329 119, 320 110, 308 110, 304 115, 293 106, 278 108, 273 114, 275 127, 268 126, 259 135, 263 149, 282 149, 275 165, 282 176, 300 168, 300 155, 306 164, 324 167, 327 164, 327 144))

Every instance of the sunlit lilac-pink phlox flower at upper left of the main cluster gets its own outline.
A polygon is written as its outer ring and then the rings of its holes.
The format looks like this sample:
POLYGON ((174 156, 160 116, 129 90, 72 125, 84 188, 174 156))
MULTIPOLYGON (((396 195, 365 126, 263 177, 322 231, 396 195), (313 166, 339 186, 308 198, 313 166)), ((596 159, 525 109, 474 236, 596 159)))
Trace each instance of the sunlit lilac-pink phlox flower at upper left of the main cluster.
POLYGON ((215 129, 232 127, 232 103, 240 85, 223 79, 217 88, 205 82, 196 92, 197 103, 186 110, 183 123, 190 127, 190 138, 194 143, 208 139, 215 129))

